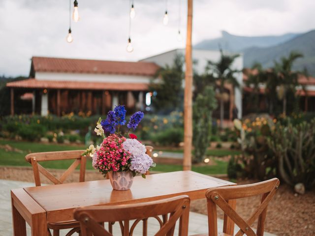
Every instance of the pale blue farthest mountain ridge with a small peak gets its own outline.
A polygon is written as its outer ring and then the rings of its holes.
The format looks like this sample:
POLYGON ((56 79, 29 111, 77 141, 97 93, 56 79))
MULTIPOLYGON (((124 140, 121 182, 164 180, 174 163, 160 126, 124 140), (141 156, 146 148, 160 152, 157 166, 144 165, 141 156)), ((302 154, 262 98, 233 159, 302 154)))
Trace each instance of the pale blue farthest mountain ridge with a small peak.
POLYGON ((286 33, 280 36, 237 36, 230 34, 226 31, 222 31, 220 38, 208 39, 201 41, 194 45, 195 49, 207 49, 207 50, 218 50, 219 45, 223 50, 231 52, 243 52, 244 49, 250 47, 270 47, 281 43, 284 43, 296 36, 299 33, 286 33))

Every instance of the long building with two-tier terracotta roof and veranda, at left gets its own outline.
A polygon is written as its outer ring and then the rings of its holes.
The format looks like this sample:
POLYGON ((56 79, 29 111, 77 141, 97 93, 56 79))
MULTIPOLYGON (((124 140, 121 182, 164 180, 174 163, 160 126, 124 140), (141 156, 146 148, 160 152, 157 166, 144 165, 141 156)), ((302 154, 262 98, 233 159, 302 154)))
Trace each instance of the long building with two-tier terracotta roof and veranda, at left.
POLYGON ((143 110, 157 69, 152 62, 33 57, 30 78, 6 85, 11 114, 105 114, 114 104, 143 110), (30 99, 29 106, 19 106, 18 98, 30 99))

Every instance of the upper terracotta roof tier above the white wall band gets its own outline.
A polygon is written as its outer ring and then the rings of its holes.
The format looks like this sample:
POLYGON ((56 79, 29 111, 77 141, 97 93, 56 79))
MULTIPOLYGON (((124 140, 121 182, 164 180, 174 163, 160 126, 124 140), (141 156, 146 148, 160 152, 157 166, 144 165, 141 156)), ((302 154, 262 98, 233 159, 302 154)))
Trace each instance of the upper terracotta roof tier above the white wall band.
POLYGON ((153 76, 159 66, 153 62, 32 57, 35 72, 71 72, 153 76))

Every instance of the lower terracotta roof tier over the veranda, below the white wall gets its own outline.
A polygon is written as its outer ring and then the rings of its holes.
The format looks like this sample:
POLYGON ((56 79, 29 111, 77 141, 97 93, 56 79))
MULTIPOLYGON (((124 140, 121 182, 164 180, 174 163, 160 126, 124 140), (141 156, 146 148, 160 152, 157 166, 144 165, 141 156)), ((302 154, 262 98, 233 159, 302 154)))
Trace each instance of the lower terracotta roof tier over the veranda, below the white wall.
POLYGON ((11 88, 30 89, 92 89, 92 90, 148 90, 148 84, 143 83, 103 83, 103 82, 75 82, 75 81, 48 81, 27 79, 6 84, 11 88))

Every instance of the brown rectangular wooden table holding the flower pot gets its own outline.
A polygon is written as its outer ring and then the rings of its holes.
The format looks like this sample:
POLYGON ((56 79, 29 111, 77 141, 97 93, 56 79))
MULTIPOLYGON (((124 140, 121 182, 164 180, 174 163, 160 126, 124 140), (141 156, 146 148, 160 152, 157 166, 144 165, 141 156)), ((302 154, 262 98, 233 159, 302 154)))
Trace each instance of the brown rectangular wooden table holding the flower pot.
POLYGON ((47 222, 73 220, 76 207, 154 201, 186 194, 191 200, 205 198, 208 188, 235 183, 192 171, 178 171, 134 177, 130 190, 113 190, 110 181, 97 180, 11 190, 15 236, 46 236, 47 222))

